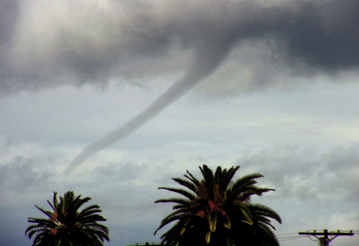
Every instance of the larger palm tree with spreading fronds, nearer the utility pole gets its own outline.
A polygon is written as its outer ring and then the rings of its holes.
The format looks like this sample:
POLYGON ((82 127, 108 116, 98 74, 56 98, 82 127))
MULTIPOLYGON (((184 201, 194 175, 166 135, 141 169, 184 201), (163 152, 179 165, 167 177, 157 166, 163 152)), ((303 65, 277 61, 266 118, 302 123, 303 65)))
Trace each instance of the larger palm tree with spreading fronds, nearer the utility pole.
POLYGON ((164 233, 162 244, 175 246, 191 245, 240 245, 251 240, 255 246, 278 246, 272 231, 271 219, 282 223, 281 217, 270 208, 251 204, 252 195, 273 189, 255 186, 256 178, 262 174, 253 173, 232 181, 240 166, 222 169, 215 173, 203 165, 200 170, 203 179, 197 180, 189 171, 185 178, 172 178, 184 188, 159 187, 184 197, 158 199, 155 203, 174 203, 173 212, 167 215, 154 234, 175 222, 164 233))

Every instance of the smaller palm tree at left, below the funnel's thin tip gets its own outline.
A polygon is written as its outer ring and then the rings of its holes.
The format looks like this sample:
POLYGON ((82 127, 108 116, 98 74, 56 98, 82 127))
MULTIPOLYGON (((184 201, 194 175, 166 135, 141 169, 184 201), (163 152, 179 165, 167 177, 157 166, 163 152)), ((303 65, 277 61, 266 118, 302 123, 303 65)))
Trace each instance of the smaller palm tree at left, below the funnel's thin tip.
POLYGON ((75 197, 72 191, 59 197, 54 192, 53 202, 47 200, 53 211, 35 207, 48 218, 28 218, 30 223, 25 235, 29 238, 36 235, 32 246, 103 246, 104 240, 109 241, 109 230, 97 221, 106 221, 99 215, 98 205, 91 205, 78 211, 89 202, 90 197, 75 197))

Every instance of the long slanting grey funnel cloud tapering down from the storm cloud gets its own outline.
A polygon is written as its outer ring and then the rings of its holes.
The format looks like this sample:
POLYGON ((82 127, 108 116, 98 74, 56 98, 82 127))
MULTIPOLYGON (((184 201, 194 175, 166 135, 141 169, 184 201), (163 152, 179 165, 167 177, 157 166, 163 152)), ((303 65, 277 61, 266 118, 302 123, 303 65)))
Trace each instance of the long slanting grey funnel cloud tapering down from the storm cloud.
POLYGON ((136 129, 140 128, 150 119, 155 117, 163 109, 176 101, 179 97, 188 92, 195 84, 203 78, 209 76, 215 68, 226 57, 232 46, 233 39, 224 35, 222 38, 212 39, 214 42, 208 42, 206 45, 198 48, 196 57, 193 61, 192 68, 182 78, 176 81, 169 89, 159 96, 150 104, 142 113, 138 114, 122 126, 112 131, 106 137, 97 140, 87 146, 77 157, 70 163, 66 172, 69 173, 81 163, 86 161, 94 153, 114 144, 118 140, 126 137, 136 129))

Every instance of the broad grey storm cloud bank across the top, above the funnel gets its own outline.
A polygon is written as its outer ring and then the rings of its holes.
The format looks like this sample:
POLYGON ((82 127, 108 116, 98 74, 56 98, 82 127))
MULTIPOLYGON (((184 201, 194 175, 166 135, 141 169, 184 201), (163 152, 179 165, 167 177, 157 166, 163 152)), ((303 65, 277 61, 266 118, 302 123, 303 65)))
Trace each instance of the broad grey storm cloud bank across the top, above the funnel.
POLYGON ((1 6, 0 30, 9 40, 0 43, 2 93, 183 73, 196 50, 224 34, 238 47, 274 40, 273 52, 294 71, 359 64, 355 0, 21 4, 1 6))

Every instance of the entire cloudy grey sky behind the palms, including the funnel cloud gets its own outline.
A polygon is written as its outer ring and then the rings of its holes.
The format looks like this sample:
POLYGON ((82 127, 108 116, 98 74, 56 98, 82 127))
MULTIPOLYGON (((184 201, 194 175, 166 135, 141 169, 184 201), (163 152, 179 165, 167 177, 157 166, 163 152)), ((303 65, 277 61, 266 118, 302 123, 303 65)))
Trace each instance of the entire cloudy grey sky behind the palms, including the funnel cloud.
MULTIPOLYGON (((110 242, 153 236, 171 177, 260 172, 297 232, 359 231, 357 0, 0 0, 0 245, 31 245, 53 191, 110 242), (90 205, 90 204, 89 204, 90 205)), ((312 237, 311 239, 315 239, 312 237)), ((359 235, 331 246, 358 245, 359 235)))

